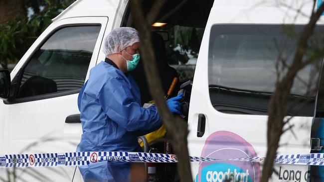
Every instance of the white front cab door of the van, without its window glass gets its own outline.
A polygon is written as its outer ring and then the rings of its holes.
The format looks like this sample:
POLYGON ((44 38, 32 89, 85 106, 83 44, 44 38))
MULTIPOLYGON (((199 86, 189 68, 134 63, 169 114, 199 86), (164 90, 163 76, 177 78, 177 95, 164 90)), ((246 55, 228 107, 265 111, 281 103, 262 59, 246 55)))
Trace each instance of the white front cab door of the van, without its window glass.
MULTIPOLYGON (((89 73, 90 68, 96 65, 107 22, 108 17, 78 17, 66 18, 52 23, 25 53, 15 70, 11 72, 11 80, 17 74, 17 71, 29 61, 43 40, 46 40, 47 36, 55 32, 58 27, 73 26, 74 24, 101 24, 88 68, 89 73)), ((13 104, 1 102, 0 117, 5 119, 1 120, 0 124, 6 129, 3 133, 1 132, 0 153, 62 153, 75 151, 82 134, 81 123, 65 123, 65 118, 80 113, 77 107, 77 97, 78 93, 13 104)), ((0 176, 4 178, 5 170, 4 168, 0 169, 0 176)), ((17 170, 17 176, 27 181, 37 181, 37 177, 41 177, 40 174, 51 174, 50 180, 70 182, 75 167, 27 168, 23 173, 21 170, 23 168, 17 170)), ((44 178, 41 178, 40 181, 42 180, 44 178)))

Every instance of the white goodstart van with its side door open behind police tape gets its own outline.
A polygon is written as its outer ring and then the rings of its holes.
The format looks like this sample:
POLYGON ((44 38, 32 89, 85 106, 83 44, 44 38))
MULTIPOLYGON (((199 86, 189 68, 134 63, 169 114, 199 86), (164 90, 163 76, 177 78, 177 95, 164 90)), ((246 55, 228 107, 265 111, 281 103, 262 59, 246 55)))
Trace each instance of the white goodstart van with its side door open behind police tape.
MULTIPOLYGON (((152 2, 143 2, 147 12, 152 2)), ((128 0, 76 0, 53 19, 10 76, 0 71, 0 154, 75 151, 82 134, 78 92, 90 69, 105 59, 104 37, 114 28, 134 26, 130 8, 128 0)), ((267 108, 278 56, 291 59, 294 34, 308 23, 312 8, 313 0, 167 1, 159 16, 167 24, 152 29, 168 35, 165 56, 180 83, 193 80, 186 100, 190 156, 266 155, 267 108)), ((321 18, 317 32, 324 30, 323 23, 321 18)), ((317 136, 311 147, 311 131, 318 129, 312 122, 322 116, 324 102, 321 92, 307 93, 308 85, 317 86, 323 78, 321 65, 307 66, 295 80, 288 101, 295 117, 285 126, 278 154, 321 150, 317 136)), ((251 162, 191 163, 196 182, 258 182, 261 169, 251 162)), ((308 166, 275 169, 276 182, 316 178, 310 178, 308 166)), ((0 168, 1 180, 14 176, 21 182, 83 181, 76 167, 0 168)))

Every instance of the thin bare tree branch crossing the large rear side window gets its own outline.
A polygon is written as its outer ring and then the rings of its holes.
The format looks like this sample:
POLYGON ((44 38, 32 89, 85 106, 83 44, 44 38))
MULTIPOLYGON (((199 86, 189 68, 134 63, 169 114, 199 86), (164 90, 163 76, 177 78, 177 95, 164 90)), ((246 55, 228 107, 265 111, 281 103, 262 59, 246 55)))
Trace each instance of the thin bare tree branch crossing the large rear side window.
POLYGON ((318 8, 316 13, 312 13, 309 23, 304 28, 302 35, 298 40, 298 47, 294 55, 291 69, 289 69, 283 79, 276 84, 276 90, 272 94, 269 101, 267 131, 268 151, 264 168, 262 170, 261 182, 268 182, 272 174, 273 160, 277 154, 280 136, 283 133, 283 119, 285 117, 285 105, 287 103, 287 98, 291 91, 296 74, 311 62, 303 62, 302 60, 308 48, 308 39, 312 35, 316 22, 319 20, 323 11, 324 3, 318 8))

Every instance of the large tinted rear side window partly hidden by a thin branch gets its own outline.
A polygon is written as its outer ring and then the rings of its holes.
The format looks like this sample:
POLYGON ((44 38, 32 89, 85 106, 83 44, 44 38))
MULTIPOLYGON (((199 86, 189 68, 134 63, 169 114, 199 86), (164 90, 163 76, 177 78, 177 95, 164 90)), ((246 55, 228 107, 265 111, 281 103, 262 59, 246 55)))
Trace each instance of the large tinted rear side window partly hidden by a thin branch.
MULTIPOLYGON (((278 78, 277 68, 285 67, 278 60, 282 58, 288 66, 292 63, 296 35, 303 28, 302 25, 214 25, 208 53, 209 95, 214 108, 224 113, 267 115, 278 78)), ((321 30, 323 27, 319 26, 316 32, 321 30)), ((314 89, 321 61, 322 58, 298 73, 286 106, 289 115, 314 115, 314 89)), ((286 71, 287 67, 278 72, 283 75, 286 71)))

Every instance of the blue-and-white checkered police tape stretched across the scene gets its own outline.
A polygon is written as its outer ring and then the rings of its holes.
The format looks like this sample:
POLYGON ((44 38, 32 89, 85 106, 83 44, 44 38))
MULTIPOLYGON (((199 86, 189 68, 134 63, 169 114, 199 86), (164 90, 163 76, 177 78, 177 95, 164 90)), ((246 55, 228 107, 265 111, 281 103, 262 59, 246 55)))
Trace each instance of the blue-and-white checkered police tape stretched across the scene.
MULTIPOLYGON (((238 159, 214 159, 207 157, 189 157, 191 162, 241 161, 264 162, 264 157, 238 159)), ((86 166, 102 161, 111 162, 145 162, 176 163, 177 157, 171 154, 143 152, 70 152, 48 154, 17 154, 0 156, 0 168, 13 167, 54 167, 54 166, 86 166)), ((291 154, 276 156, 274 163, 288 165, 324 166, 324 153, 291 154)))

